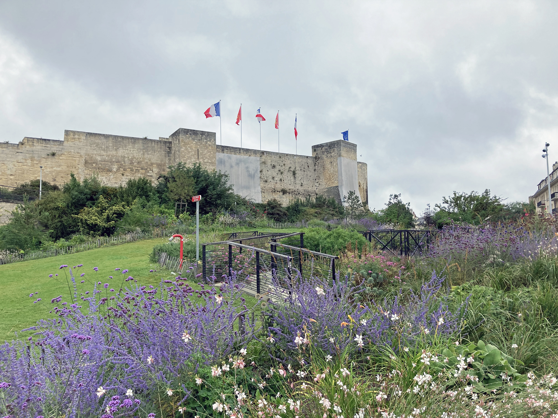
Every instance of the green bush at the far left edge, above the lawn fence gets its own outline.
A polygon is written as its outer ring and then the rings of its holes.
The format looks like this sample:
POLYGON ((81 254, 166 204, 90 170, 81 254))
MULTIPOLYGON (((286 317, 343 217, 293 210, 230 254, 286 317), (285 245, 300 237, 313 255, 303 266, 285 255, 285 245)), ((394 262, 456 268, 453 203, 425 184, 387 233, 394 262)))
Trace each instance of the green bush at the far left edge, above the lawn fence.
POLYGON ((4 250, 37 249, 46 237, 45 214, 28 197, 12 211, 12 218, 0 227, 0 248, 4 250))

